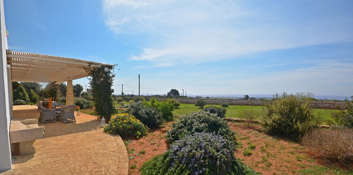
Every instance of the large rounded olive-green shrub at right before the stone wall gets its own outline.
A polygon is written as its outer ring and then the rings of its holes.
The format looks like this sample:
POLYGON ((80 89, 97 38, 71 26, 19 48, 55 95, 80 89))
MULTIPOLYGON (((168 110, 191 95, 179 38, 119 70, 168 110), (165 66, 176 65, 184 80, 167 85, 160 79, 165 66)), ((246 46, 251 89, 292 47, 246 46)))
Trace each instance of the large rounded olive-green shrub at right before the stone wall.
POLYGON ((284 134, 300 139, 321 123, 321 116, 315 116, 310 98, 297 95, 276 94, 271 101, 265 101, 263 128, 270 134, 284 134))

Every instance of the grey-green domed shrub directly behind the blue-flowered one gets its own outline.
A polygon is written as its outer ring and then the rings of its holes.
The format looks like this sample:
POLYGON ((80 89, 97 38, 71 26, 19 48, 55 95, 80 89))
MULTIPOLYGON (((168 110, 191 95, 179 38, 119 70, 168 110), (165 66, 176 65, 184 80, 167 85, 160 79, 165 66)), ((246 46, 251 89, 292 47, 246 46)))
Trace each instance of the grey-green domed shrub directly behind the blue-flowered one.
POLYGON ((210 114, 205 111, 181 116, 178 121, 173 123, 172 128, 167 131, 167 140, 172 143, 185 135, 197 132, 219 134, 235 143, 235 133, 229 128, 227 121, 217 117, 216 114, 210 114))

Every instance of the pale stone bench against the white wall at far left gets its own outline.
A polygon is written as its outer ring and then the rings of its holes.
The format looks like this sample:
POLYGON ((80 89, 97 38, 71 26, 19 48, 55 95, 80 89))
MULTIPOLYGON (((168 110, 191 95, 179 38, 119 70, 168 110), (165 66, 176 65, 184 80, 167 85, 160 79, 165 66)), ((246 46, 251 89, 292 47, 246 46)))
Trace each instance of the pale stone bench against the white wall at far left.
MULTIPOLYGON (((17 149, 14 145, 18 143, 18 151, 21 156, 35 153, 33 143, 36 139, 44 137, 43 131, 44 126, 38 126, 37 119, 11 120, 10 143, 12 149, 17 149)), ((12 152, 16 151, 12 150, 12 152)))

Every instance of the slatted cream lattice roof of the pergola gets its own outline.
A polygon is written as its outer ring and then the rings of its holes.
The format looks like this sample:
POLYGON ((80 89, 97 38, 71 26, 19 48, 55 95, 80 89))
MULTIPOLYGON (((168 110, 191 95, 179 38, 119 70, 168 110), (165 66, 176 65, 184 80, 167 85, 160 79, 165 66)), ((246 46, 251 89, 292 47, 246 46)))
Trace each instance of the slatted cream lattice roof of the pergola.
POLYGON ((11 65, 11 80, 18 82, 55 82, 56 84, 87 77, 85 66, 112 66, 62 56, 6 51, 11 65))

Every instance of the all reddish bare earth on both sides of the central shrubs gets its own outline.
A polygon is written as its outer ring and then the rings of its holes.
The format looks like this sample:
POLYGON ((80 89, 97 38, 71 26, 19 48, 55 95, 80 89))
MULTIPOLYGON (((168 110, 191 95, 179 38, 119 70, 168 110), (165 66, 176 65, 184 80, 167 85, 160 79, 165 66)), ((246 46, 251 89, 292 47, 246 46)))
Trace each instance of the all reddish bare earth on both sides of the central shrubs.
MULTIPOLYGON (((324 162, 298 143, 263 133, 259 125, 247 128, 243 123, 228 123, 237 132, 239 145, 235 156, 263 175, 353 174, 352 165, 338 167, 324 162), (245 148, 250 150, 251 155, 244 156, 245 148)), ((147 136, 140 139, 122 137, 127 144, 129 174, 139 175, 139 168, 145 161, 168 149, 165 134, 171 125, 172 122, 168 122, 160 128, 151 129, 147 136)))

